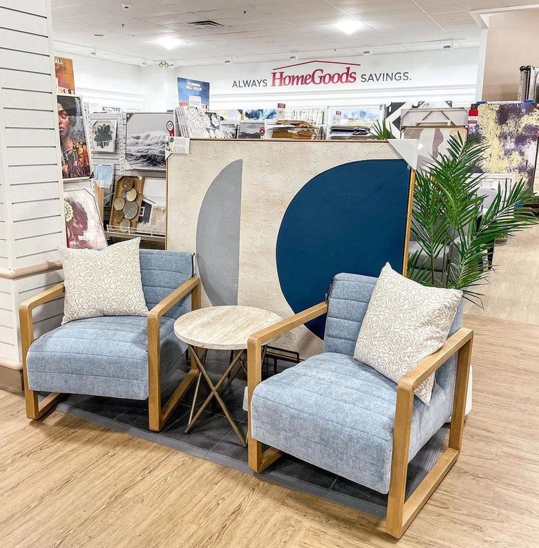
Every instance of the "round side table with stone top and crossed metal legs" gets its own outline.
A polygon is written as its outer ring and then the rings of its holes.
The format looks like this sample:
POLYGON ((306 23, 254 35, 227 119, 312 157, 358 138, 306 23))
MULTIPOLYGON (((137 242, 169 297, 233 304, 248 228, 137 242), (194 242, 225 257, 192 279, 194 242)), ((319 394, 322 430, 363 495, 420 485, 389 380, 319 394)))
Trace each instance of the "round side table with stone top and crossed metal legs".
POLYGON ((214 306, 187 312, 187 314, 180 316, 174 322, 176 337, 189 345, 191 359, 195 361, 198 368, 198 379, 196 381, 193 403, 191 404, 189 424, 185 428, 186 432, 189 432, 193 428, 193 425, 199 419, 200 415, 202 415, 202 411, 207 408, 211 399, 215 398, 223 409, 225 417, 227 417, 240 442, 244 447, 247 445, 245 437, 231 417, 220 395, 227 390, 240 369, 243 368, 247 373, 247 339, 249 339, 249 336, 281 321, 281 319, 281 316, 278 316, 278 314, 269 310, 263 310, 262 308, 251 306, 214 306), (199 348, 203 349, 202 359, 198 351, 199 348), (205 368, 205 355, 208 349, 232 351, 232 359, 215 385, 205 368), (193 416, 200 379, 202 378, 205 379, 210 393, 193 416))

